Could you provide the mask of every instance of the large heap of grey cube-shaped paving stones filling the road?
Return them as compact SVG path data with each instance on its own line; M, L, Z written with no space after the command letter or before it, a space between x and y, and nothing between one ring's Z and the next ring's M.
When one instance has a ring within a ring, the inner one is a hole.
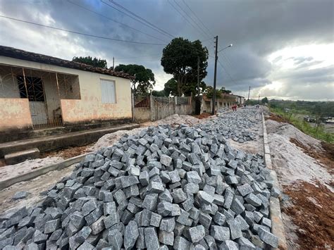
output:
M228 119L218 116L123 135L87 155L38 206L0 215L0 248L277 247L268 200L279 190L271 189L264 158L227 142L254 139L244 130L256 112L232 113L228 130Z

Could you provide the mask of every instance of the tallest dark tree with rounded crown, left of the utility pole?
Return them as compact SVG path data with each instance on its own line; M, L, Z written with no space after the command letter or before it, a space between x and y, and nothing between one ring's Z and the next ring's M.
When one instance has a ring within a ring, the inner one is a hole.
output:
M183 94L185 85L197 82L197 62L199 60L199 80L206 77L209 51L199 40L190 42L178 37L173 39L164 49L161 58L163 70L173 75L176 80L177 94Z

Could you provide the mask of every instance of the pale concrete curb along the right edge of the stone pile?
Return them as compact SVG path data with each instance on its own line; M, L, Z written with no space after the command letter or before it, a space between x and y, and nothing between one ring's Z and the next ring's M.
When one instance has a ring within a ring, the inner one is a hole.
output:
M264 120L264 113L262 112L262 125L264 130L264 162L266 167L271 170L271 178L273 186L279 188L277 175L271 163L271 155L268 144L268 135L266 130L266 122ZM271 217L271 232L278 237L278 249L287 249L287 242L285 239L285 230L282 221L282 213L280 213L280 200L275 197L270 198L270 217Z

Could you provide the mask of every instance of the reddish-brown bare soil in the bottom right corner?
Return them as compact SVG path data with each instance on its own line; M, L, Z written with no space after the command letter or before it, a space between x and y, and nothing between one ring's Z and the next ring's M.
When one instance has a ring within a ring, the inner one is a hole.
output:
M300 249L333 249L334 194L325 185L316 182L297 182L283 187L294 206L283 207L292 222L299 227Z

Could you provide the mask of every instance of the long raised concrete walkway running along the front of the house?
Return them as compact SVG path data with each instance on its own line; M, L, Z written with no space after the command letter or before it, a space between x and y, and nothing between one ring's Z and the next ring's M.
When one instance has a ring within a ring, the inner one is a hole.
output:
M118 130L132 130L136 127L140 127L140 125L137 123L130 123L93 130L70 132L61 135L51 135L47 137L5 142L0 144L0 158L3 158L6 154L23 151L25 149L37 148L40 152L47 152L68 146L83 146L96 142L99 137L102 137L103 135L116 132Z

